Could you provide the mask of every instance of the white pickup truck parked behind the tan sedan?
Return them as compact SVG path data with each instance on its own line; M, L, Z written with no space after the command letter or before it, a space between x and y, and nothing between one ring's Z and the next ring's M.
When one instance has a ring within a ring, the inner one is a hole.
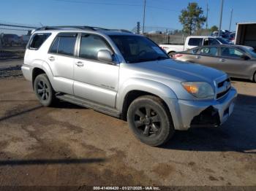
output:
M204 45L216 45L216 44L229 44L225 39L221 37L213 36L187 36L185 44L159 44L169 56L185 50L192 49L194 47Z

